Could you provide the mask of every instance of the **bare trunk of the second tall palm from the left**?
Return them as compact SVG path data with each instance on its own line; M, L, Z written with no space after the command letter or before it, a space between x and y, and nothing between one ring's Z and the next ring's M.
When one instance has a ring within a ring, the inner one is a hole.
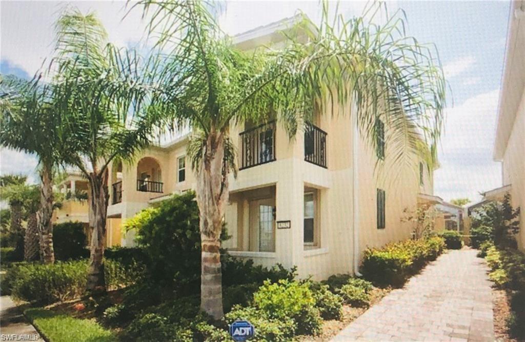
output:
M100 177L96 172L89 175L89 225L91 231L89 275L86 286L87 292L106 292L104 278L104 246L106 245L106 218L108 212L108 174L104 172Z

